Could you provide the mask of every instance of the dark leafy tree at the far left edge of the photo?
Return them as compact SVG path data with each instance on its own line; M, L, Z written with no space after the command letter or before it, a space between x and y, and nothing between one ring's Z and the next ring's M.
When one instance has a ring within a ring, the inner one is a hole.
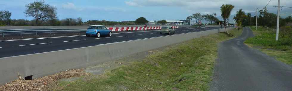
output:
M0 11L0 25L2 25L2 21L4 21L7 25L10 25L11 12L9 11Z

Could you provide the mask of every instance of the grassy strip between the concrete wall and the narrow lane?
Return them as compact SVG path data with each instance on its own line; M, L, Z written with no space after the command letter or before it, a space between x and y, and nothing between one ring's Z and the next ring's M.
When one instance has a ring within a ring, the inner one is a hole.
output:
M241 31L230 31L238 36ZM235 36L234 36L235 37ZM123 65L94 78L60 81L59 90L208 90L212 80L217 44L231 39L212 34L169 46L143 61Z

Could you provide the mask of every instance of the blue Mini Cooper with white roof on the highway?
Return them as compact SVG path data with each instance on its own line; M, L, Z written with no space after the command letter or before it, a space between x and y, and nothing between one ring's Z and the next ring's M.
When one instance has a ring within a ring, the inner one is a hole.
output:
M111 36L111 30L108 30L105 26L102 25L91 25L86 30L86 36L94 35L100 37L101 35Z

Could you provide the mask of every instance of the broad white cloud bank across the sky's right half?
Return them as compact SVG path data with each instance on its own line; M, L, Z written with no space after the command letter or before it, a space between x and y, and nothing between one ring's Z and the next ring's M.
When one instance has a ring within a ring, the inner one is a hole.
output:
M246 12L252 12L257 7L262 9L270 0L128 0L125 4L134 7L179 7L189 13L215 12L219 13L222 4L232 4L235 6L233 14L239 8ZM267 6L269 10L276 10L273 6L277 6L278 0L272 0ZM281 6L291 6L292 0L281 0ZM167 9L167 8L166 8ZM219 15L219 14L218 14Z

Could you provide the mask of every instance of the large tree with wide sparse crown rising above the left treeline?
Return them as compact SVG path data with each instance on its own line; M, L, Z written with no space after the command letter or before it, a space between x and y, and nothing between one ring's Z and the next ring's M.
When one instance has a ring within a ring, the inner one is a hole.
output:
M57 18L57 8L45 4L45 1L35 1L25 5L27 9L23 12L27 17L35 18L35 24L38 26L39 22Z

